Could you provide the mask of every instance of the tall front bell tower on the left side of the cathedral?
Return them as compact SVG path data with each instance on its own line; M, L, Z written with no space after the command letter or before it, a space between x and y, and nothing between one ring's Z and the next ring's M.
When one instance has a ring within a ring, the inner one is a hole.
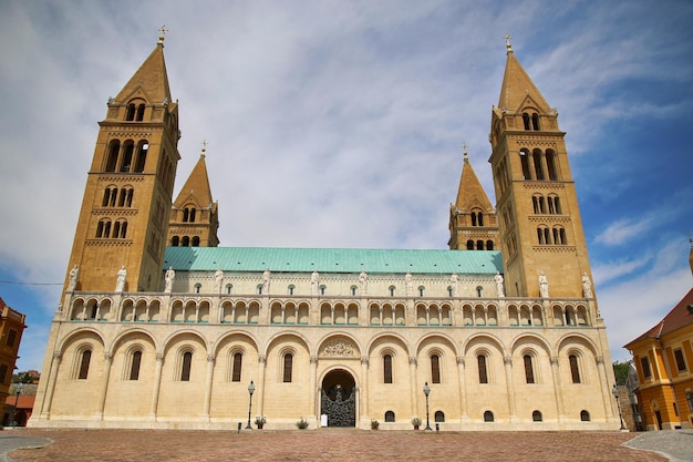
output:
M107 106L70 257L69 268L79 271L71 271L65 289L113 291L124 267L118 290L157 290L180 158L178 103L170 97L163 33Z

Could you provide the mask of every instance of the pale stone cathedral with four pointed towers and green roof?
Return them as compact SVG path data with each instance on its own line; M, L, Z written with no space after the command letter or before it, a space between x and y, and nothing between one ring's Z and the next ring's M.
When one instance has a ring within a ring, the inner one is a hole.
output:
M618 429L565 133L506 54L497 203L465 152L448 249L219 247L162 37L99 123L29 425Z

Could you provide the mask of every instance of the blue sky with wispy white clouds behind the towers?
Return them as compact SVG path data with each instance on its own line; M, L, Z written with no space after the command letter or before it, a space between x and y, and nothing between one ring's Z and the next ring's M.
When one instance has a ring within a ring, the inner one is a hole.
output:
M207 140L225 246L445 248L461 145L492 199L516 57L560 113L612 359L691 288L693 3L0 2L0 297L41 369L106 101L166 24L177 187ZM23 284L9 284L23 283Z

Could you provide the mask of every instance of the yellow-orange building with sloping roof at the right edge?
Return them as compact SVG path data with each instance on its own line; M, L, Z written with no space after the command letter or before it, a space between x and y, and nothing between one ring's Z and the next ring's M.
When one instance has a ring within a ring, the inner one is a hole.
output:
M693 243L689 261L693 273ZM693 428L693 289L624 348L638 370L635 394L647 429Z

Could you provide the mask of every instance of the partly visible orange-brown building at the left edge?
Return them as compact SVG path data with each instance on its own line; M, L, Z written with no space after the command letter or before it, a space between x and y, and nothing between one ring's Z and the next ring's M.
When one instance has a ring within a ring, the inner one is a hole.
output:
M13 310L0 298L0 402L4 404L8 396L14 363L19 358L19 345L27 326L25 316Z

